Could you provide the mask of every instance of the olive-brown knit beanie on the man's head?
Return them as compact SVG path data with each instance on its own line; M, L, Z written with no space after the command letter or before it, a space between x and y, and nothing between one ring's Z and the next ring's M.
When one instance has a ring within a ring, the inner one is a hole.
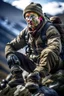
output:
M23 11L24 17L27 12L35 12L40 16L43 16L42 6L39 3L31 2Z

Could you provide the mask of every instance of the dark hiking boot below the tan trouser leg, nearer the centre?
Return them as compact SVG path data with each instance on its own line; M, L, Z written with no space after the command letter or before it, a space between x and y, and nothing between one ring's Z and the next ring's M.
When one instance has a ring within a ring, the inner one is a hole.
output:
M39 90L39 84L40 84L39 72L33 72L28 75L25 87L28 88L30 92L33 92L33 90Z

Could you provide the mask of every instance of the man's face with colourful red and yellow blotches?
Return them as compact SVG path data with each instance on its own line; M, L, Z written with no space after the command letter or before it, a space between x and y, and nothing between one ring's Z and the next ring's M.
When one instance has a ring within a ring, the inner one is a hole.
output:
M40 23L39 15L34 12L28 12L25 14L25 19L28 24L28 27L32 30Z

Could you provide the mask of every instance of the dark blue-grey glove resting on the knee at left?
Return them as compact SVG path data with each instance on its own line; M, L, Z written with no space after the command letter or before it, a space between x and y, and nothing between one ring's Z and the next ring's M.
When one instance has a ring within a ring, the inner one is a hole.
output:
M12 73L23 70L21 68L20 60L18 59L18 57L15 54L10 54L7 57L7 62L8 62L9 68L11 69Z

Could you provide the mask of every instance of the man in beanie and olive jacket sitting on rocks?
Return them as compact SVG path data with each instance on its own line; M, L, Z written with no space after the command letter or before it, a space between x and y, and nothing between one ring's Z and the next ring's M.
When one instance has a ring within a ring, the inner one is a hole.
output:
M61 66L60 34L53 25L47 29L46 34L43 34L42 30L48 19L45 18L40 4L30 3L24 9L23 15L27 27L20 32L17 38L7 43L5 55L13 74L20 70L29 73L25 87L38 88L42 78L56 72ZM26 56L17 52L25 46Z

